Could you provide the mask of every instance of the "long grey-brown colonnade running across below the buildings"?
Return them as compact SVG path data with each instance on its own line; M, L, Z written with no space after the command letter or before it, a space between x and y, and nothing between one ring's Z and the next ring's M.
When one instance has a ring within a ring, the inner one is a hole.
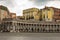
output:
M4 22L0 27L3 32L60 32L57 23Z

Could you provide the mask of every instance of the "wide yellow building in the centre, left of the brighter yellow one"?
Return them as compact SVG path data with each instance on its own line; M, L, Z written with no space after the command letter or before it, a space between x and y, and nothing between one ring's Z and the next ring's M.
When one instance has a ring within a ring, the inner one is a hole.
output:
M40 19L40 10L38 8L30 8L23 10L23 16L25 20L39 20Z

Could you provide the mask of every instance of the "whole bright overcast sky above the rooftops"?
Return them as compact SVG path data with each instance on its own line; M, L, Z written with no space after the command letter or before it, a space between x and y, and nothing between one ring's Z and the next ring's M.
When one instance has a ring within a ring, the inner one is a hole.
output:
M21 16L24 9L32 7L39 9L45 6L60 8L60 0L0 0L0 5L7 6L10 12Z

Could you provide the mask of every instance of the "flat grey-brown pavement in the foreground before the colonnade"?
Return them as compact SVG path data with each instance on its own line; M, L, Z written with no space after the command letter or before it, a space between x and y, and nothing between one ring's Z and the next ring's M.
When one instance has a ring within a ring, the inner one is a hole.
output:
M0 40L60 40L60 33L0 33Z

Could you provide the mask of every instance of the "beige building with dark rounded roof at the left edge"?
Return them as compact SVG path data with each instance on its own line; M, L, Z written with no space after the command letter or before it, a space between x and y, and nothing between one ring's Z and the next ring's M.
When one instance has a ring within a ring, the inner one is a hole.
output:
M0 22L4 18L9 18L9 10L7 7L0 5Z

